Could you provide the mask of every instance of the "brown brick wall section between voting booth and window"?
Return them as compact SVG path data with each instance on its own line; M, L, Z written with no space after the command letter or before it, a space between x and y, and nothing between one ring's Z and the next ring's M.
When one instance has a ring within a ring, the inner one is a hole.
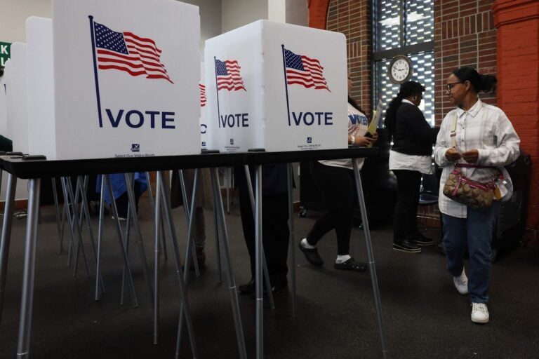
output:
M348 71L354 88L352 97L371 113L371 1L331 0L326 29L346 36Z

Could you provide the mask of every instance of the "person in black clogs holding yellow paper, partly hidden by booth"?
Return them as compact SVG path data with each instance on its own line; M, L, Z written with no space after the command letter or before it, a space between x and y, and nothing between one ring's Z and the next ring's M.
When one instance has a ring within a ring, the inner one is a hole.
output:
M366 147L378 140L378 133L367 137L368 120L361 107L350 97L352 79L348 76L348 143L352 146ZM358 168L364 163L364 158L357 158ZM312 179L322 195L327 210L321 212L314 222L307 237L300 241L300 250L307 262L313 266L322 266L317 250L321 238L335 229L337 234L337 258L333 267L350 271L365 271L365 263L356 261L350 256L350 235L352 233L354 196L354 172L352 160L343 158L337 160L314 161L311 167Z

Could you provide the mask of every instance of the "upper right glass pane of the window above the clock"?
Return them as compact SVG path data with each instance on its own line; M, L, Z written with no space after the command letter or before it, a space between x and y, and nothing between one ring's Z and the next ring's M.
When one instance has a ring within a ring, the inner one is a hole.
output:
M434 8L432 1L406 1L405 45L434 40Z

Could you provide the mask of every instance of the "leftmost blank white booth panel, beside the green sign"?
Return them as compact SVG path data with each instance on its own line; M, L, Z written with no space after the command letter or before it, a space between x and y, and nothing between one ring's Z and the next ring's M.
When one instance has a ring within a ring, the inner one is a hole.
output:
M6 63L7 137L13 151L28 153L28 109L26 43L11 44L11 59Z

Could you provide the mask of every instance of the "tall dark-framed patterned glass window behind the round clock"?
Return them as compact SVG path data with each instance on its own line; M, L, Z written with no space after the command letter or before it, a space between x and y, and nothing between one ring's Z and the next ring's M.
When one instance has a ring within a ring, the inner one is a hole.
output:
M434 126L434 0L373 0L373 107L387 107L399 85L387 76L395 55L408 55L412 81L425 86L420 109Z

